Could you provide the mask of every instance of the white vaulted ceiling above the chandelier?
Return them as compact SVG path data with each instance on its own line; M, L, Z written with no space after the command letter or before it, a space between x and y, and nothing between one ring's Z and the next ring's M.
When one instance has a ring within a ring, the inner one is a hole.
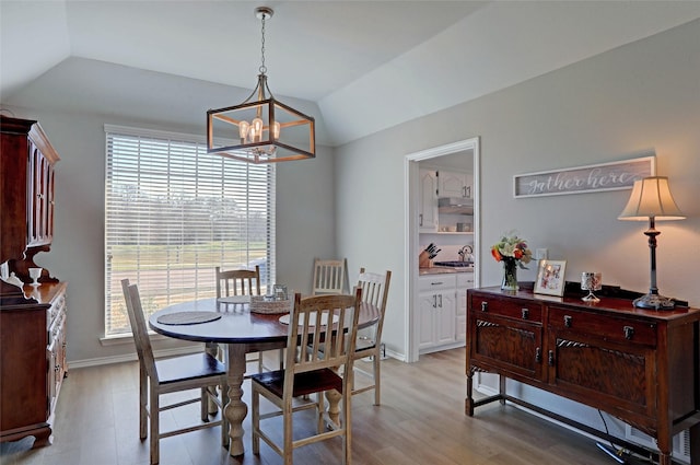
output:
M201 126L255 85L262 4L270 89L328 146L700 18L698 1L0 0L0 102Z

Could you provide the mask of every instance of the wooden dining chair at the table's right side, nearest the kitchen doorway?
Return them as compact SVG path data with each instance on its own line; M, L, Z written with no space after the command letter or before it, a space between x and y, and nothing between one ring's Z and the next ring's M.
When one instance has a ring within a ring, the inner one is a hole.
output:
M360 394L374 390L374 405L380 405L381 399L381 361L382 361L382 328L384 327L384 315L386 313L386 299L389 293L389 281L392 271L368 272L360 268L358 288L362 290L362 301L380 309L380 319L369 328L368 335L360 335L355 344L353 358L355 360L370 357L372 360L372 372L366 372L354 364L355 372L372 380L372 384L355 388L352 385L352 394Z

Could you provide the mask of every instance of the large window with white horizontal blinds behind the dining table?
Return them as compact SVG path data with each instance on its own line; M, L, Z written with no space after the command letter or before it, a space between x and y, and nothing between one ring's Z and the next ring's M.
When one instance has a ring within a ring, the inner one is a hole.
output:
M214 267L275 279L275 165L208 154L203 137L105 126L105 336L130 333L121 279L147 317L215 297Z

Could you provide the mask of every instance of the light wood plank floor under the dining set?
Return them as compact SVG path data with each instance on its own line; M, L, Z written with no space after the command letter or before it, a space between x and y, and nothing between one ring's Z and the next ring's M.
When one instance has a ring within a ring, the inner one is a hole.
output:
M361 362L365 363L365 362ZM593 440L512 406L498 403L464 415L464 349L421 357L418 363L382 362L382 406L373 393L353 397L352 458L355 465L599 465L611 464ZM369 365L369 363L366 363ZM248 382L244 399L249 405ZM27 465L141 465L149 463L148 441L138 438L138 365L120 363L71 370L57 407L54 444L30 450L32 439L0 444L0 463ZM162 425L196 420L162 415ZM172 411L172 410L171 410ZM248 418L249 418L248 412ZM161 464L281 464L266 444L232 458L221 447L218 428L161 441ZM313 428L302 418L295 428ZM340 439L294 452L300 465L336 464Z

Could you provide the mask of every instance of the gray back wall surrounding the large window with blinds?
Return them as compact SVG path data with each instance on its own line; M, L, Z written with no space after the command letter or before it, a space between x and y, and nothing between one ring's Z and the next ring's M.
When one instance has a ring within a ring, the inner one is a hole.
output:
M36 263L68 281L68 361L74 367L136 359L131 338L101 342L104 336L105 124L203 135L205 129L161 126L98 113L56 113L10 108L39 121L61 161L56 166L56 225L51 252ZM98 108L95 108L97 112ZM202 114L203 119L203 114ZM290 289L308 292L313 257L335 256L332 152L316 160L281 163L277 184L277 276ZM182 346L155 338L156 350Z

